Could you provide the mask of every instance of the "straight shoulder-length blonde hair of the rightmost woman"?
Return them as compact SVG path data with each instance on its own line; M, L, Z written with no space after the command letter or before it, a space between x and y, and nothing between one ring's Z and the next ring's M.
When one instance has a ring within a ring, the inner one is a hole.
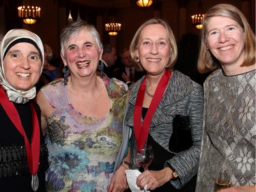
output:
M251 66L255 64L255 34L248 24L245 16L233 5L218 4L210 8L203 18L203 29L201 29L201 46L197 68L199 72L210 72L216 68L221 68L218 59L207 50L207 33L210 18L223 16L235 20L244 29L244 61L241 66Z

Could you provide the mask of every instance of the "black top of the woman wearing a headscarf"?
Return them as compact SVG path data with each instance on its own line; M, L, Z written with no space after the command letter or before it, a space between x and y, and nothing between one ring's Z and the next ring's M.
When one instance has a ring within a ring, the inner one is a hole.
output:
M31 101L30 101L31 102ZM25 129L29 141L32 134L32 115L30 102L25 104L14 103L20 120ZM35 111L40 121L40 108L33 102ZM31 174L27 163L27 154L25 151L25 141L18 132L3 107L0 105L0 191L1 192L29 192L31 189ZM48 167L48 150L44 144L42 128L40 127L40 166L38 170L39 188L38 192L45 189L45 170Z

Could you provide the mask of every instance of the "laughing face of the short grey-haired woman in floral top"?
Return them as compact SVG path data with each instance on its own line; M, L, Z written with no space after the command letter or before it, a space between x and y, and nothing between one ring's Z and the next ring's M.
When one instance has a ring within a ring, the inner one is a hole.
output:
M96 75L102 50L99 50L94 38L84 29L66 44L64 55L61 55L63 63L68 66L72 76L87 77Z

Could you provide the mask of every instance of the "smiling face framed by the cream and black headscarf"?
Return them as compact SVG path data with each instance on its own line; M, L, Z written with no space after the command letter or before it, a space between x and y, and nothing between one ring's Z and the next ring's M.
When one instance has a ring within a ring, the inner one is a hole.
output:
M16 90L30 90L41 75L42 61L33 44L20 42L11 47L3 59L6 80Z

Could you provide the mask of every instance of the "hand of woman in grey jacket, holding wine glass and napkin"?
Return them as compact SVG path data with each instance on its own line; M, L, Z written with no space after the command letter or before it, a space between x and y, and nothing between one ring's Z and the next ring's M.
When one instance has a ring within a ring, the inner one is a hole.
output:
M137 185L141 189L147 185L147 190L154 190L171 180L171 169L165 168L160 171L147 170L137 178Z

